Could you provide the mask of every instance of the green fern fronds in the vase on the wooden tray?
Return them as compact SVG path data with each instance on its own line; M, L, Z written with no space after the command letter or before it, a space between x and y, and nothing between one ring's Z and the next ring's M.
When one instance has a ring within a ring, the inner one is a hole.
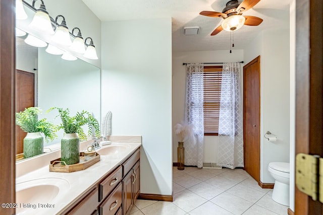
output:
M48 111L58 110L62 123L58 126L59 129L63 129L65 133L78 133L80 140L87 139L87 136L82 128L83 125L88 126L88 136L92 135L92 127L95 130L95 136L100 137L100 126L98 121L88 111L77 112L75 116L70 116L70 110L52 107ZM47 111L47 112L48 112Z

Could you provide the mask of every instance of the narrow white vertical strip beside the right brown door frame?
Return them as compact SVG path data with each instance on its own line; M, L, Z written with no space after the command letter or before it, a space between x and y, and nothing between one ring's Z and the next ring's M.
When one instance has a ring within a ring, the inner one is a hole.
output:
M290 4L290 183L289 183L289 207L295 211L295 59L296 59L296 1Z

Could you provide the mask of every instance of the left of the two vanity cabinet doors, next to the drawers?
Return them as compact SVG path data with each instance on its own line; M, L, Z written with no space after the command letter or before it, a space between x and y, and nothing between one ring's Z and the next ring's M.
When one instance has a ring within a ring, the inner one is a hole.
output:
M122 180L122 214L129 214L133 206L132 183L134 174L131 170Z

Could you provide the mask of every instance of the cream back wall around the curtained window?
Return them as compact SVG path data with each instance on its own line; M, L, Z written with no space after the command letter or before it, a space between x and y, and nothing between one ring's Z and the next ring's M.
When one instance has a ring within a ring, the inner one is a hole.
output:
M242 60L243 50L232 50L232 53L229 50L174 52L173 127L184 120L186 67L183 62L234 62ZM178 136L173 133L173 162L177 162L178 141ZM217 147L218 136L204 136L204 162L216 163Z

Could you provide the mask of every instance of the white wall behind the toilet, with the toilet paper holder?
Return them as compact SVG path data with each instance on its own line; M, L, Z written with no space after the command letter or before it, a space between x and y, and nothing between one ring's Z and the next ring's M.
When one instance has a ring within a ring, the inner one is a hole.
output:
M270 162L289 162L290 56L289 29L265 30L244 50L245 64L260 55L260 181L274 183ZM268 142L266 131L278 137Z

